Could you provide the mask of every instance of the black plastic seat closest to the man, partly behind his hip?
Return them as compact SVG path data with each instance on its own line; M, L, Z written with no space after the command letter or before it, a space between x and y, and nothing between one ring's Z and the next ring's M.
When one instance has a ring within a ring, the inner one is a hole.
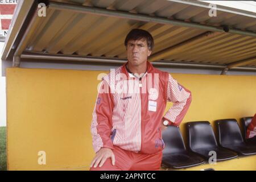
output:
M203 158L186 150L179 127L168 126L162 136L166 145L163 150L163 167L187 168L205 163Z

